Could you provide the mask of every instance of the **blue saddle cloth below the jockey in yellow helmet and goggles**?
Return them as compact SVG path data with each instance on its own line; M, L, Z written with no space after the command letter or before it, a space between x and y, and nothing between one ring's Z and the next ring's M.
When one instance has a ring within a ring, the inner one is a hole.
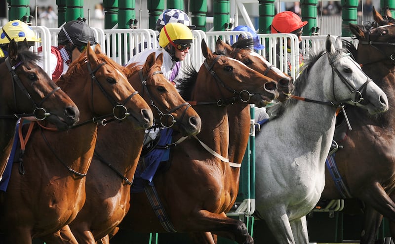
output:
M159 131L159 141L155 149L149 152L139 161L136 172L134 173L133 185L131 187L132 193L143 192L144 184L148 181L148 184L153 185L152 180L158 170L160 162L168 161L170 157L170 148L166 147L166 144L171 143L173 129L164 128ZM144 165L141 165L144 163Z

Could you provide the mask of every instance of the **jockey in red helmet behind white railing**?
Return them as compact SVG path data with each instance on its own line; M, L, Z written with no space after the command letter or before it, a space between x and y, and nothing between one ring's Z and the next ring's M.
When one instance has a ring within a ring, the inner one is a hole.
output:
M291 33L295 34L298 37L299 42L302 41L302 33L303 33L303 27L307 24L307 21L302 21L299 17L294 12L291 11L284 11L280 12L275 15L272 21L272 33ZM290 47L290 40L288 39L288 49L287 52L290 53L291 50L289 49ZM277 54L279 53L279 46L277 46ZM288 75L291 75L291 63L290 63L290 58L291 55L287 55L288 57ZM279 58L277 58L277 62L279 62ZM299 65L303 65L303 55L300 53L299 54ZM279 64L277 63L277 67L279 67Z

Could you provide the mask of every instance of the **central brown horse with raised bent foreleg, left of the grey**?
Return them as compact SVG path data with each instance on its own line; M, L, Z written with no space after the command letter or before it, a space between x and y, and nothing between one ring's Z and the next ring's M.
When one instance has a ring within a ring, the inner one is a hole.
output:
M245 224L228 218L224 212L237 194L225 190L227 178L232 177L226 172L229 167L240 165L227 163L229 125L225 105L246 102L250 97L249 102L265 106L278 96L277 83L233 58L213 54L204 40L201 47L204 64L198 73L189 74L190 82L183 81L179 86L184 99L197 104L194 108L204 122L201 132L172 148L170 160L162 165L165 170L154 177L163 206L157 210L165 212L161 214L164 221L158 221L145 193L133 193L130 209L119 227L165 232L165 226L173 232L211 232L240 244L251 244ZM209 243L214 243L212 237Z

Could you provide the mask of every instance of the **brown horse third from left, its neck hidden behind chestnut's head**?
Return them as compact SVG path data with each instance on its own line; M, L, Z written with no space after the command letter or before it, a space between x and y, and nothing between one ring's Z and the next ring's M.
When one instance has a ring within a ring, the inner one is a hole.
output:
M195 135L200 132L200 117L163 76L162 56L155 58L153 52L145 65L127 66L128 80L152 105L158 123L168 124L166 120L172 118L183 135ZM132 123L99 127L95 155L86 176L86 201L69 224L79 244L95 243L106 236L128 211L143 137L144 130Z

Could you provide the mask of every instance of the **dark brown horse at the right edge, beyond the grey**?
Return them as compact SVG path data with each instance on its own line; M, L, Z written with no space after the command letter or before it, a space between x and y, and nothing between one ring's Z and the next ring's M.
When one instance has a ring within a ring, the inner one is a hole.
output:
M356 61L363 71L386 91L390 104L395 102L395 25L373 9L376 23L385 24L364 30L350 24L359 40ZM373 243L383 215L395 221L395 137L394 108L376 117L356 107L348 107L347 117L353 130L340 143L335 161L349 194L340 194L326 170L325 188L321 199L358 198L366 204L361 243ZM343 195L343 196L342 196ZM390 196L389 196L390 195ZM395 233L393 233L394 236Z

